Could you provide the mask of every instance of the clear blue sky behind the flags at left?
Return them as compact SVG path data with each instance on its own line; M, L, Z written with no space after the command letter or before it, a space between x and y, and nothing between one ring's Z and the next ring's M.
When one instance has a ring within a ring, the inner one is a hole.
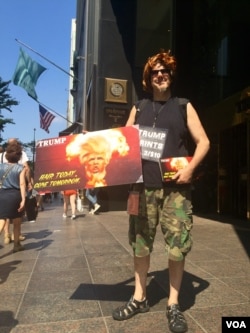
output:
M70 72L71 21L76 17L76 0L0 0L0 77L12 80L20 47L36 62L46 68L39 77L35 90L38 100L66 118L70 76L46 61L32 50ZM21 45L19 42L29 46ZM71 72L72 74L72 72ZM56 116L48 134L40 128L39 104L27 92L9 84L10 96L19 102L12 112L2 110L7 124L2 138L18 138L27 143L34 140L58 137L67 127L67 121Z

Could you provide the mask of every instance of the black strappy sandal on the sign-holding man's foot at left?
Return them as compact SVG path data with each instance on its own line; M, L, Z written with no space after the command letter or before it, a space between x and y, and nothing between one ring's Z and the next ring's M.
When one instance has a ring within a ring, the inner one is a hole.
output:
M112 316L115 320L126 320L133 317L137 313L148 312L150 309L148 305L148 300L145 299L142 302L139 302L133 298L130 298L128 303L115 309L112 313Z

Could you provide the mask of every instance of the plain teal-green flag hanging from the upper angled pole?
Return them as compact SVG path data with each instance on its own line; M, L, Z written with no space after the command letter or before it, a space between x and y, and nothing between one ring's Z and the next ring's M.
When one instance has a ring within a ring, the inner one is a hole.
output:
M35 85L39 76L45 70L45 67L32 60L30 56L20 48L19 58L12 81L16 86L24 88L30 97L37 100Z

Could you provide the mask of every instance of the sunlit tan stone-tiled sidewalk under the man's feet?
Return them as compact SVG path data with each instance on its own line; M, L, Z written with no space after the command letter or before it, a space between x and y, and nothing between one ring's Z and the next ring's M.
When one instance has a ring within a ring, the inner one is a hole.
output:
M117 322L133 293L125 211L62 218L62 202L24 222L26 250L0 240L1 333L168 333L167 258L158 229L148 274L150 312ZM180 304L189 333L220 333L222 316L250 316L249 221L194 217Z

